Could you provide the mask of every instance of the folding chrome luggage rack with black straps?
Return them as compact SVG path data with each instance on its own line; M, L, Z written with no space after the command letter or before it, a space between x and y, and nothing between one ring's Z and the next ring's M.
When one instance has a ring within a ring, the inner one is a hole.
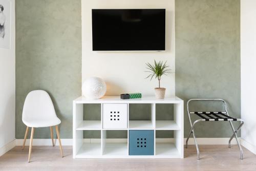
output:
M191 101L222 101L224 103L224 110L225 112L191 112L189 111L189 102ZM238 136L237 136L237 132L241 129L242 125L244 124L244 121L242 119L237 119L237 118L232 118L229 116L228 112L227 112L227 105L226 102L223 99L190 99L187 101L187 114L188 114L188 118L189 118L189 122L191 125L191 129L190 132L187 136L186 139L186 148L187 148L187 142L189 139L189 136L191 135L191 133L193 134L194 140L195 140L195 145L197 148L197 159L199 160L199 148L198 148L198 144L197 144L197 140L196 140L196 136L195 136L195 131L194 131L194 126L197 122L201 122L201 121L229 121L230 126L232 128L233 131L233 135L230 137L229 141L228 141L228 147L230 148L230 142L231 140L235 137L240 149L240 158L243 159L243 149L241 147L241 144L239 142ZM196 121L194 121L194 123L192 124L191 122L191 118L190 118L190 114L195 114L197 116L199 116L201 119L198 119ZM240 121L241 124L238 126L237 130L234 130L234 126L232 124L231 121Z

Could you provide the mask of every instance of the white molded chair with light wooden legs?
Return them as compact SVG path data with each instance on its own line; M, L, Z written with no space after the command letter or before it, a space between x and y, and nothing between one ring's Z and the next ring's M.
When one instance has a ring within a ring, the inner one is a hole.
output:
M29 144L28 162L30 162L30 158L31 158L33 134L34 134L35 127L49 126L50 132L51 132L52 145L54 146L52 126L55 126L58 141L59 141L60 152L63 157L62 146L61 146L59 131L58 131L58 124L60 124L61 121L56 116L51 97L46 91L35 90L30 92L27 95L25 99L24 107L23 107L22 121L25 125L27 125L22 149L24 149L25 147L25 142L27 139L29 127L32 128L30 144Z

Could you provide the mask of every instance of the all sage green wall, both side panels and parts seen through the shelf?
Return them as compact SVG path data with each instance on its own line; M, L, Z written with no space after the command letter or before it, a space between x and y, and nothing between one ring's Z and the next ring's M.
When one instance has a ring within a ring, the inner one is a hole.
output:
M229 112L239 117L240 1L178 0L175 8L177 96L185 102L189 98L223 98ZM50 93L61 119L61 138L72 138L72 100L80 96L80 87L80 0L16 0L16 138L24 137L23 104L26 95L36 89ZM99 113L98 106L89 106L84 117L98 118L92 115ZM147 105L132 105L130 117L149 119L149 110ZM172 119L169 111L173 105L158 105L157 119ZM184 118L186 136L186 113ZM199 123L196 133L198 137L231 135L227 123ZM99 132L84 132L86 138L99 136ZM109 136L125 138L126 134L110 132ZM49 128L36 129L34 137L50 138ZM157 137L173 137L173 132L159 131Z

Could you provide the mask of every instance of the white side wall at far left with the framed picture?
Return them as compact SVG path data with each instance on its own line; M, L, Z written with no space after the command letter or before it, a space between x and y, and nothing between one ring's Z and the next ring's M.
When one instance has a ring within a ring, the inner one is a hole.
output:
M0 48L0 156L15 139L15 1L11 2L11 45Z

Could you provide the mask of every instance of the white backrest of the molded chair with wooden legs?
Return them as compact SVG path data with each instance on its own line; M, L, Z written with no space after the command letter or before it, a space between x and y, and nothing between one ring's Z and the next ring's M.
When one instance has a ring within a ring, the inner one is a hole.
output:
M30 92L24 103L22 120L51 119L56 113L49 94L44 90L34 90Z

